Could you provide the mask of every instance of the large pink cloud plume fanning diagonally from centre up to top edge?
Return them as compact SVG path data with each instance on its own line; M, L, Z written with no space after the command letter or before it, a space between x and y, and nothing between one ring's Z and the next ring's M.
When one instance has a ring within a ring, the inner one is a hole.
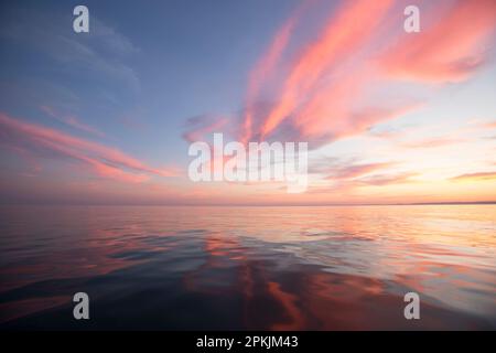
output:
M374 46L370 44L378 40L376 32L392 8L393 1L342 2L317 40L304 46L298 58L290 63L289 73L282 75L285 78L276 104L258 111L248 108L244 127L251 133L245 133L244 138L254 136L263 139L271 135L278 139L305 140L311 142L311 148L315 148L365 132L375 124L418 108L420 104L414 99L393 99L377 105L366 103L369 87L379 86L384 81L380 71L377 71L377 63L367 51L365 57L347 66L348 57L364 47ZM294 18L291 18L284 24L261 62L273 56L273 47L280 53L281 43L288 44L291 32L288 29L293 30L294 23ZM281 58L278 56L278 60ZM256 69L262 69L266 81L267 77L278 76L271 72L278 69L276 65L256 66ZM256 96L254 85L249 85L248 92L249 96Z

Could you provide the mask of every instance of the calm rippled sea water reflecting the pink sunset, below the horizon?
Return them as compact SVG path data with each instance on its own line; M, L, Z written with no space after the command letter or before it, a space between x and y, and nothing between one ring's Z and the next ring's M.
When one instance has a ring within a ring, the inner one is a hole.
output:
M496 329L496 205L15 206L0 221L1 329ZM420 320L403 317L409 291Z

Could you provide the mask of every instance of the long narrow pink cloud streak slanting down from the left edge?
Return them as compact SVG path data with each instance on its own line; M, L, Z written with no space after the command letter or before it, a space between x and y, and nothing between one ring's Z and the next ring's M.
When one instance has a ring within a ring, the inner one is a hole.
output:
M174 176L175 168L155 169L118 149L73 137L40 125L19 121L0 113L2 142L32 154L64 157L87 165L97 175L122 182L143 182L151 175Z

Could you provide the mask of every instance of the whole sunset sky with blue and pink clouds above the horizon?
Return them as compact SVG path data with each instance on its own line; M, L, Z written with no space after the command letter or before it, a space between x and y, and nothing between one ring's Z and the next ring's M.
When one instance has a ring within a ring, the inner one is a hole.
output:
M0 200L496 201L495 44L494 0L2 1ZM215 132L308 142L306 190L193 182Z

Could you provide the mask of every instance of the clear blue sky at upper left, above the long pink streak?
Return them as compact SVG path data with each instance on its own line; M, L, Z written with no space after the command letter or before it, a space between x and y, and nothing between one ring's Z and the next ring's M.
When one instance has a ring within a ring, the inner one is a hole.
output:
M240 109L265 33L294 1L87 1L87 34L73 32L78 3L3 4L1 109L66 128L39 109L51 106L130 153L169 163L187 157L185 119Z

